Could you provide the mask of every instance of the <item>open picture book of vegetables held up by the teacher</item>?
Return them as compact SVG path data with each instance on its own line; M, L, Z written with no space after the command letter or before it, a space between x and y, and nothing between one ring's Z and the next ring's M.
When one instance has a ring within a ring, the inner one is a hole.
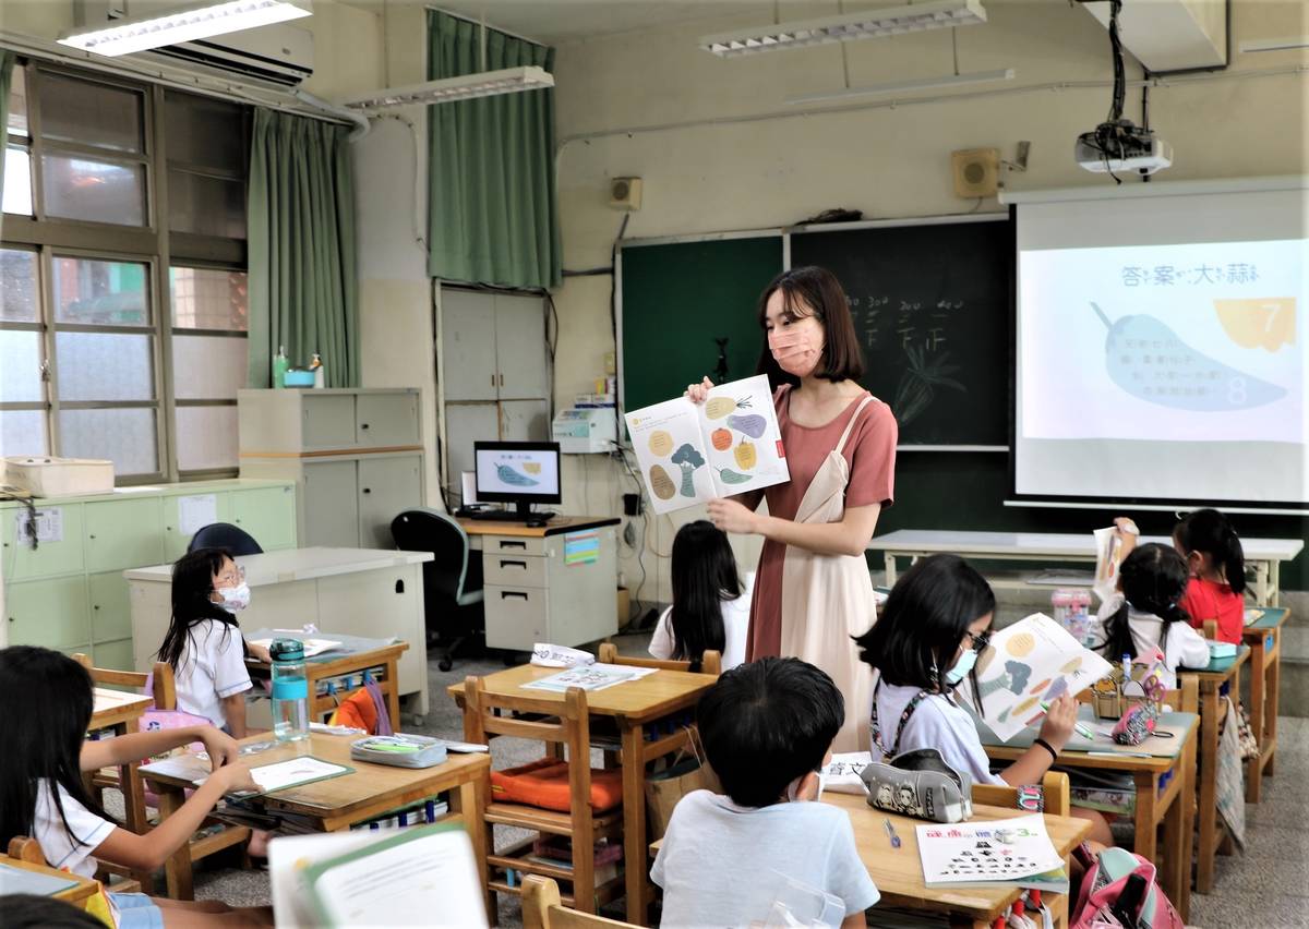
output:
M791 480L772 391L763 374L627 413L645 489L656 513Z

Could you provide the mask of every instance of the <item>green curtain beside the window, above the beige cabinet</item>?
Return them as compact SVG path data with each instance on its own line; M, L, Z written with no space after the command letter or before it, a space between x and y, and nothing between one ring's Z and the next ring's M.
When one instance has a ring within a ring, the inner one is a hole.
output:
M285 345L293 368L322 356L329 387L357 387L359 281L350 127L254 111L250 195L251 387L272 385Z

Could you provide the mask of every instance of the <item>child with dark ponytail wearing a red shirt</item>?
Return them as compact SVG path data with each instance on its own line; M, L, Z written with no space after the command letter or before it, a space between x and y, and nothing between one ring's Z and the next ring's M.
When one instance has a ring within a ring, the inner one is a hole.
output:
M1228 518L1213 509L1195 510L1173 529L1173 547L1186 559L1191 578L1182 608L1191 625L1213 619L1219 641L1241 644L1245 628L1245 552Z

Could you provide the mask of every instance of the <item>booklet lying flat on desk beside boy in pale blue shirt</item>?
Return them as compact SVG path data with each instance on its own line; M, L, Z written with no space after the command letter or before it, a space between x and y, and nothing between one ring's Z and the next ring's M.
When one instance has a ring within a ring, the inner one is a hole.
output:
M1068 874L1039 813L915 827L928 887L1004 885L1068 892Z

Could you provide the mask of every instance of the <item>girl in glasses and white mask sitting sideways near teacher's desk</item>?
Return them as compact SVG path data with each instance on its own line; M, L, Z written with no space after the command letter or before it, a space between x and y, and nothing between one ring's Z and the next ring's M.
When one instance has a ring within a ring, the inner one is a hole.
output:
M245 644L232 615L250 603L245 572L223 548L196 548L173 565L173 620L158 658L177 675L177 707L237 739L246 737L245 658L267 649Z

